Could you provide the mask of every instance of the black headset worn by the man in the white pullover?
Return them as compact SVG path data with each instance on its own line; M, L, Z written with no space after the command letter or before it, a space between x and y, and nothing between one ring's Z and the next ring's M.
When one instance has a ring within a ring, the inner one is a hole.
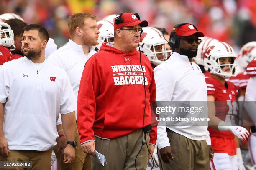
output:
M168 42L168 44L172 47L172 51L174 51L175 48L179 47L179 36L176 34L175 30L178 27L180 27L181 25L185 25L185 24L190 24L190 23L178 23L178 24L174 25L174 27L172 28L170 39L169 39L169 42ZM193 25L193 24L190 24L190 25ZM197 30L195 25L193 25L193 26L194 26L195 30Z

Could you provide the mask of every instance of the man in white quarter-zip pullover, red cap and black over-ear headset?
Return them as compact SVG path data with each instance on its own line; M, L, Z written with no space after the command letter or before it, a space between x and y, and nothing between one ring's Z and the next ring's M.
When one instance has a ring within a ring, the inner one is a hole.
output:
M174 26L170 36L173 53L154 69L156 101L207 101L205 77L200 67L192 62L200 43L198 37L203 36L194 25L180 23ZM213 150L207 125L190 122L186 126L171 126L159 122L157 129L161 169L209 170Z

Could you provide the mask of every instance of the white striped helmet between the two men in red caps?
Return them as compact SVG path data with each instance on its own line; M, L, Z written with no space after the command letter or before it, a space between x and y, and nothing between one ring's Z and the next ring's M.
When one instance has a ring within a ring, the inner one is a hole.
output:
M161 31L154 27L143 28L139 47L141 52L143 52L148 57L153 65L159 65L164 62L158 59L158 54L162 54L164 60L166 60L168 57L167 53L172 52L172 50L166 50L165 44L167 44L167 41L164 39L164 35ZM160 52L156 52L157 45L162 45L162 50ZM139 48L137 48L137 50L139 50Z

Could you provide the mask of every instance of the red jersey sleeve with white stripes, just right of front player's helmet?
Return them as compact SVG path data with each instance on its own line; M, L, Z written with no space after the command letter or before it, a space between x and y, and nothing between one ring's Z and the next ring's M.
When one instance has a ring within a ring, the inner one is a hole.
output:
M249 79L247 72L241 72L236 77L230 77L228 81L232 82L238 90L245 90Z

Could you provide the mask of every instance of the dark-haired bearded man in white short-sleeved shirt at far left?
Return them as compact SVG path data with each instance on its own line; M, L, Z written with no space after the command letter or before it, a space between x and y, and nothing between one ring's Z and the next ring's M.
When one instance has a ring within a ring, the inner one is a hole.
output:
M46 60L48 40L41 25L26 26L25 57L0 68L0 161L31 161L33 169L50 169L59 113L70 144L63 162L74 161L74 92L66 72Z

